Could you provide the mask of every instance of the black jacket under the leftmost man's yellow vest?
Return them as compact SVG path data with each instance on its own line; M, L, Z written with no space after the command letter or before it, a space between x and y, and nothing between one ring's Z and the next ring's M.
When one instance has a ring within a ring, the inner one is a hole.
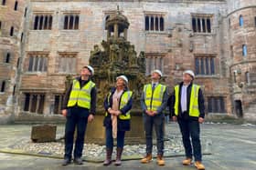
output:
M82 88L84 85L86 85L90 81L90 80L83 81L83 80L81 80L80 77L77 77L76 79L80 82L80 88ZM73 83L71 83L71 85L69 85L69 89L66 92L66 94L64 95L62 109L67 109L68 108L69 95L71 93L72 87L73 87ZM96 87L94 86L91 89L91 109L90 109L90 114L92 114L92 115L95 115L95 113L96 113L96 96L97 96L97 90L96 90Z

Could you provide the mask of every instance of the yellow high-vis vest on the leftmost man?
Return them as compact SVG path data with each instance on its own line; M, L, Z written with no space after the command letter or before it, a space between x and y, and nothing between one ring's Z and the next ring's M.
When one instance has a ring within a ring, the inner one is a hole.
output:
M80 88L80 82L73 80L72 90L69 95L68 107L78 105L83 108L91 108L91 89L95 86L91 80Z

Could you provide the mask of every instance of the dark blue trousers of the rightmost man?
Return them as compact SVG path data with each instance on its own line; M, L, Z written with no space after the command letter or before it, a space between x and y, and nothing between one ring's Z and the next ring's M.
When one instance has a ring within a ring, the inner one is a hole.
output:
M201 144L200 144L200 125L197 120L178 120L182 141L185 147L185 154L192 158L192 146L195 161L202 161ZM192 146L191 140L192 139Z

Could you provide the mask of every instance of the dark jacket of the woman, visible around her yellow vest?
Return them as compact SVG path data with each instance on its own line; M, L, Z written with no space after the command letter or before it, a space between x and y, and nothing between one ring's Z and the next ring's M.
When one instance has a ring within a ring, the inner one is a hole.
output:
M111 107L112 108L112 95L114 94L116 88L112 88L111 90L111 96L110 96L110 100L108 100L109 94L106 96L105 100L104 100L104 108L105 111L108 112L108 109ZM128 91L128 89L124 89L123 93ZM123 95L123 94L122 94ZM121 97L122 97L121 95ZM128 101L127 105L125 105L123 107L123 109L121 109L120 111L122 112L123 115L125 115L128 111L130 111L132 109L133 106L133 99L132 97L130 98L130 100ZM130 120L121 120L119 117L117 119L117 130L119 131L130 131L131 129L131 125L130 125ZM108 114L107 116L105 116L104 120L103 120L103 125L106 128L111 128L112 127L112 118L111 118L111 114Z

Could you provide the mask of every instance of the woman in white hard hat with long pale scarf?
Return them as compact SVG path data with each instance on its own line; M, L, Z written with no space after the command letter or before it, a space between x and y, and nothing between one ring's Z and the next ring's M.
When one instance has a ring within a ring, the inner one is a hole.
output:
M113 140L117 140L116 159L114 165L121 165L125 131L130 130L130 110L132 109L133 92L128 89L125 75L116 78L116 86L112 88L104 101L106 110L103 125L106 129L106 160L103 165L112 163Z

